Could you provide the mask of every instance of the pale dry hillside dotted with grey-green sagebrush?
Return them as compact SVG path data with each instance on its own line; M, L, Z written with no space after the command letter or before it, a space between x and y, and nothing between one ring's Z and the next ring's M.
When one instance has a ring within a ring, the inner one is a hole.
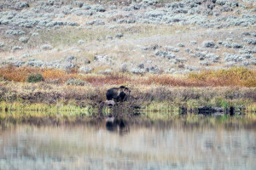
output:
M0 0L0 65L80 72L256 68L254 0Z

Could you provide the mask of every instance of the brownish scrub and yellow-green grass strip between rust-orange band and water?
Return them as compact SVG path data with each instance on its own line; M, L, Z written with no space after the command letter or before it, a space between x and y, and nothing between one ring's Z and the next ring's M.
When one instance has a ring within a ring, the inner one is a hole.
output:
M106 100L108 88L72 85L55 85L45 82L0 82L0 99L3 111L79 111L98 108ZM123 108L139 106L145 111L177 111L180 107L196 109L201 106L234 106L255 111L256 88L178 88L168 86L133 86L131 96ZM119 104L120 107L121 104Z

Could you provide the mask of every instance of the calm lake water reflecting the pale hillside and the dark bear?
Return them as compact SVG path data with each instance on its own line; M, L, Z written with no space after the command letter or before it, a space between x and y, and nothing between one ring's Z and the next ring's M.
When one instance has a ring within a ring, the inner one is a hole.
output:
M256 169L255 122L137 116L60 126L2 123L0 169Z

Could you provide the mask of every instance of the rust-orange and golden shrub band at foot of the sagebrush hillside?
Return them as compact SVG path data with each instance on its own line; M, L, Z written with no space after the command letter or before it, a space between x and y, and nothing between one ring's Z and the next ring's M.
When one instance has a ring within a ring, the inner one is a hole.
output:
M56 69L38 69L30 67L16 68L9 66L0 68L0 77L14 82L25 82L32 73L41 73L45 81L58 80L66 82L77 78L90 82L92 86L115 85L163 85L175 87L256 87L256 71L242 67L233 67L228 70L201 71L190 73L187 76L173 77L172 75L143 76L114 73L110 75L79 74L76 70L61 71Z

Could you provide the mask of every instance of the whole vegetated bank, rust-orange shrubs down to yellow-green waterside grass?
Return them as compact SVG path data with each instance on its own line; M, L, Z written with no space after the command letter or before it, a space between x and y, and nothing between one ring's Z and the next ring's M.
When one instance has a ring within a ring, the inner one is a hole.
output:
M41 74L44 81L26 82L35 73ZM128 109L139 106L146 112L166 113L178 112L181 107L193 110L201 106L234 106L236 110L256 111L256 71L240 67L173 76L80 74L76 70L9 66L0 68L0 77L2 111L90 114L92 108L106 100L108 88L120 85L131 88L131 96L124 103Z

